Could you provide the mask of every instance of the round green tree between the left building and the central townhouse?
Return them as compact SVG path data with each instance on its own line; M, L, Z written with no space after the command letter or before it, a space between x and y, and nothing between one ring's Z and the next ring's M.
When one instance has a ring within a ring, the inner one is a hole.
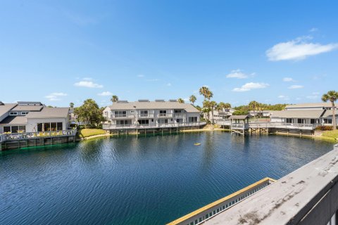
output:
M101 122L104 122L103 108L99 108L99 105L93 99L87 99L80 107L75 108L74 114L77 116L77 120L84 124L84 127L98 126Z

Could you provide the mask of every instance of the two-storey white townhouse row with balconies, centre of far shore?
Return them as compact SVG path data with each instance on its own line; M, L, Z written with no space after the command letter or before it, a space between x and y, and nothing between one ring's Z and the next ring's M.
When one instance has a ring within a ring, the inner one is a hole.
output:
M124 127L183 127L199 124L201 113L189 103L176 100L117 101L104 109L104 129Z

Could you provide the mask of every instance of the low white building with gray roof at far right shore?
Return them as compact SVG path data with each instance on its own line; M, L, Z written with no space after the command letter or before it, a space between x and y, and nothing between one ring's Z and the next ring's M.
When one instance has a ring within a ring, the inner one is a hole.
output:
M337 110L337 106L335 107ZM331 103L301 103L287 105L285 110L271 113L271 122L286 122L291 124L332 125ZM335 115L338 121L338 114Z

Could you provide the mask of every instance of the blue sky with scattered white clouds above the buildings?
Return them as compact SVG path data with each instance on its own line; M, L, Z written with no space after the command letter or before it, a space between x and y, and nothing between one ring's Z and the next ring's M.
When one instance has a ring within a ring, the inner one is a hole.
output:
M318 102L337 90L337 1L0 1L0 101Z

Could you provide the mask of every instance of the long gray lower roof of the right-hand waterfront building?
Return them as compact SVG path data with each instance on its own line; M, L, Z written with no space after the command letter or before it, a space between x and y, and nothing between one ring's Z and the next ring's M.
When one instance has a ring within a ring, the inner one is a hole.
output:
M275 111L271 117L281 118L319 118L325 110L282 110Z

